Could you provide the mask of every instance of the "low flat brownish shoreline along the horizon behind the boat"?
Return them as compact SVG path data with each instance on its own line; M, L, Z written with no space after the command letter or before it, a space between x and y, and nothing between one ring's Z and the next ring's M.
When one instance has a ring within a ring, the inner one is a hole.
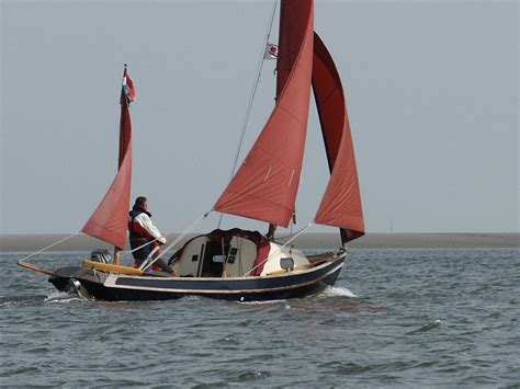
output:
M0 252L33 252L67 234L3 234ZM177 234L168 234L172 241ZM332 249L340 245L338 233L304 233L294 247L308 250ZM348 244L351 249L515 249L520 248L520 233L368 233ZM91 251L110 248L97 239L78 236L49 251Z

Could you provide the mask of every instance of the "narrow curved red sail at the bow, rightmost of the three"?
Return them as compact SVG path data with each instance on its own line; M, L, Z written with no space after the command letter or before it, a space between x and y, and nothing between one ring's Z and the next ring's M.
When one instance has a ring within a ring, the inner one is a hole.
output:
M340 227L343 242L364 234L363 210L341 80L332 57L314 35L313 88L330 168L315 222Z

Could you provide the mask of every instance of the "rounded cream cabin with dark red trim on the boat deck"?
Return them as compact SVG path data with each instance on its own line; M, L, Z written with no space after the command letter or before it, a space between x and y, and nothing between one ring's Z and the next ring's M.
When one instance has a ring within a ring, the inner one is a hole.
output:
M177 276L194 278L269 276L310 266L301 251L238 228L197 236L168 263Z

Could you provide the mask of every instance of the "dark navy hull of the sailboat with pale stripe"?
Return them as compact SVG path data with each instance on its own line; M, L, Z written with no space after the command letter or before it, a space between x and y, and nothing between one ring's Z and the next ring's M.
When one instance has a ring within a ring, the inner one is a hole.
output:
M81 267L61 267L50 277L58 290L109 301L170 300L203 296L230 301L265 301L305 297L335 284L343 265L340 258L305 272L271 277L181 278L109 275ZM79 284L78 284L79 282ZM75 285L76 284L76 285Z

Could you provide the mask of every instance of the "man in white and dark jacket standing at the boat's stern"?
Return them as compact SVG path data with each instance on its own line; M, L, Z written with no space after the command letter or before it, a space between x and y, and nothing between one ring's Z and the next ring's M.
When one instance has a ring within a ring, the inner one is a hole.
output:
M134 251L134 267L139 267L148 258L151 251L159 244L166 244L166 239L159 229L151 222L151 214L148 211L148 199L139 196L135 199L135 204L129 211L128 231L129 243L132 250L137 249L146 243L144 248ZM172 270L162 261L155 262L161 271L172 273ZM155 267L155 266L154 266Z

